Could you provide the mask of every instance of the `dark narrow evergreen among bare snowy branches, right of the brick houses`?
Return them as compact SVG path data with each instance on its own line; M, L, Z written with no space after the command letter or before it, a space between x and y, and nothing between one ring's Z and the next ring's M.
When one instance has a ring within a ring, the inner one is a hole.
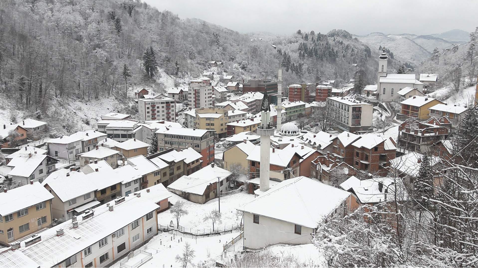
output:
M418 176L413 181L413 195L419 208L426 207L424 198L433 197L433 170L427 154L422 157Z

